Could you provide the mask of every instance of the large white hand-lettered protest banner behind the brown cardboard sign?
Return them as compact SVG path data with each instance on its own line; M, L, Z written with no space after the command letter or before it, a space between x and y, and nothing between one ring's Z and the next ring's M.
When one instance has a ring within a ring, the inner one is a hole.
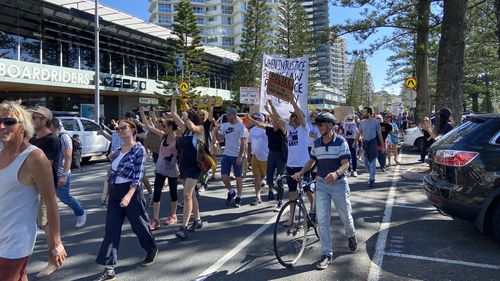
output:
M265 112L264 105L266 104L267 100L272 100L273 105L276 107L279 115L284 118L288 118L290 116L290 111L293 111L293 107L288 101L289 98L286 98L286 95L283 96L283 98L286 99L284 100L269 93L268 83L270 73L272 72L293 79L293 99L295 99L304 115L308 116L308 68L308 56L300 58L282 58L279 56L264 55L262 62L262 82L260 87L260 112ZM271 82L272 81L273 80L271 80ZM276 91L273 91L273 89L271 89L271 91L273 93L276 93Z

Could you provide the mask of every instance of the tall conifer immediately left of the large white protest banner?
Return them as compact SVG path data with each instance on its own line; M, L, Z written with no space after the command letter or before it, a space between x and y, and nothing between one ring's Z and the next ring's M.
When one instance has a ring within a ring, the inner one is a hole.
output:
M239 101L241 86L259 86L262 55L269 50L271 30L265 0L250 0L245 16L240 60L235 63L231 89L233 100Z

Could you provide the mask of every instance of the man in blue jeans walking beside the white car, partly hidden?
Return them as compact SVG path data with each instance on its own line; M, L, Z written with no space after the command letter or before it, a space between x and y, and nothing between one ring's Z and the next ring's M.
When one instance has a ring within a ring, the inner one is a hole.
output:
M61 143L61 149L57 161L57 197L73 209L76 216L75 227L80 228L87 221L87 210L84 210L80 203L69 193L71 185L71 160L73 154L73 141L68 133L62 131L62 125L59 119L52 118L50 131L56 135Z

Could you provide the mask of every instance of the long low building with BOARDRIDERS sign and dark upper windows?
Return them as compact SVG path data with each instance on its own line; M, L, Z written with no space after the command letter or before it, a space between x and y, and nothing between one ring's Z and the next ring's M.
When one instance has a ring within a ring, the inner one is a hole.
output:
M100 103L106 120L140 104L158 103L157 79L167 75L170 31L99 6ZM55 111L94 104L94 1L4 0L0 3L0 101L21 99ZM206 47L210 85L230 98L237 55ZM207 91L205 91L207 92ZM81 112L81 111L80 111Z

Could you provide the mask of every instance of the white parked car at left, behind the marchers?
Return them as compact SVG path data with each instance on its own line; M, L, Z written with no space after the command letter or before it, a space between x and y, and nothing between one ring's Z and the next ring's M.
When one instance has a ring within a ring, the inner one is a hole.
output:
M111 145L105 137L97 135L101 129L93 120L75 116L57 116L66 132L78 134L82 141L82 161L88 162L92 156L107 154Z

